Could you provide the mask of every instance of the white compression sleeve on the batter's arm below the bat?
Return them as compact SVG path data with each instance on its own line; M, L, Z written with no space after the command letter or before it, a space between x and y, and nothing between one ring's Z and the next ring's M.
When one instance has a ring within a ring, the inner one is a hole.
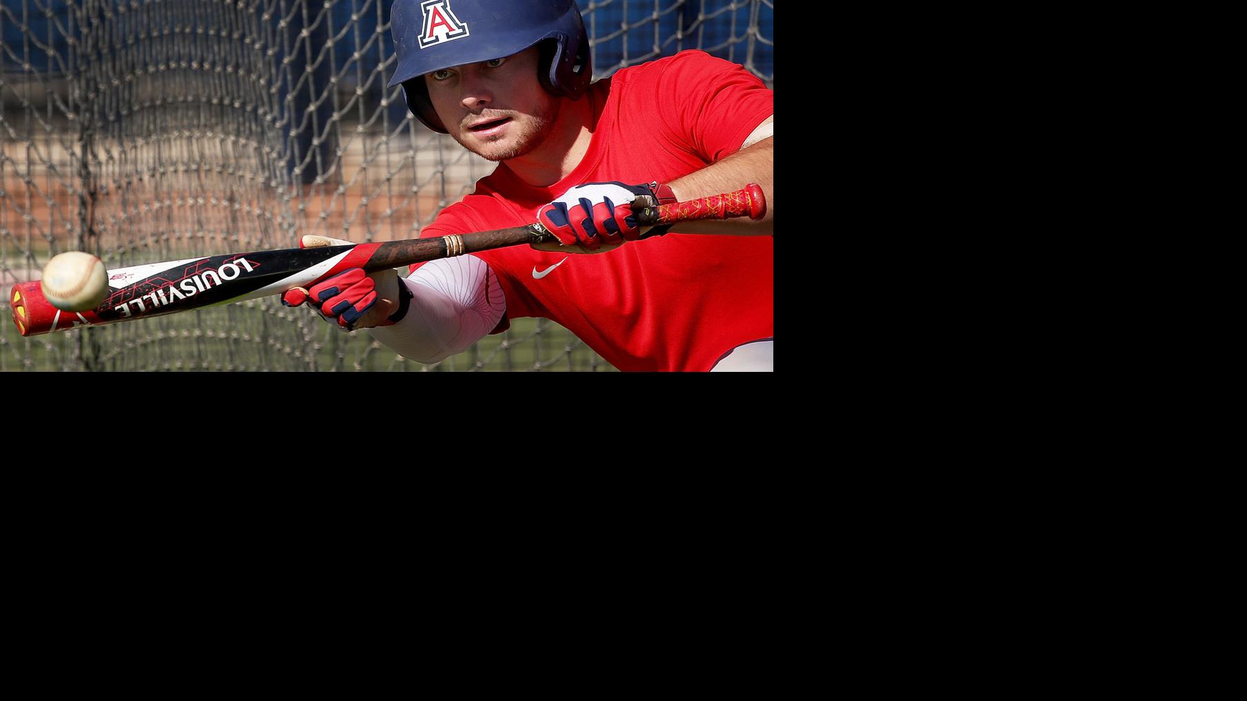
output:
M438 362L468 350L506 311L498 276L475 255L430 260L398 281L412 290L407 315L393 326L368 331L416 362Z

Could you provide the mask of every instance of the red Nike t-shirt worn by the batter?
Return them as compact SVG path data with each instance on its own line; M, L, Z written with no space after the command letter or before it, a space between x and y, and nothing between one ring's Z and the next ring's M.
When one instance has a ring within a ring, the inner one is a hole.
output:
M597 126L571 174L536 188L499 163L421 238L531 224L541 205L585 183L671 182L739 151L774 110L762 81L696 50L621 68L586 95ZM774 242L677 232L595 255L526 245L473 255L498 275L508 318L551 319L624 371L710 370L731 349L774 335Z

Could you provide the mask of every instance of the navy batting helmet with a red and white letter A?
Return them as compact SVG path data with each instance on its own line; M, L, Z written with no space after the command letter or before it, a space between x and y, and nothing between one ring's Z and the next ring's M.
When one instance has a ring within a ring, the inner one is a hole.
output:
M448 133L429 101L424 73L493 61L540 44L537 78L554 95L580 98L592 78L589 36L572 0L394 0L390 35L407 107Z

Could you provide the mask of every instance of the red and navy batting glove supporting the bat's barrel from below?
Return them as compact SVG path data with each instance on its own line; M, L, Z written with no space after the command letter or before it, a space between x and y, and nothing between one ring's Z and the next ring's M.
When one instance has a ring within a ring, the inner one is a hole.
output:
M303 237L299 248L348 244L350 242L327 237ZM293 288L282 294L286 306L298 306L308 300L325 321L354 331L398 322L407 314L412 291L399 281L393 269L368 274L363 268L352 268L311 289ZM378 300L384 304L378 305Z

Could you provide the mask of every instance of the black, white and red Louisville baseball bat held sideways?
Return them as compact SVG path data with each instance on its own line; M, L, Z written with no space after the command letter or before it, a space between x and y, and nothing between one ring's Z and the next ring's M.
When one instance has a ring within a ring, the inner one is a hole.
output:
M662 205L653 198L638 197L632 205L643 227L731 217L761 219L767 210L762 188L752 183L737 192ZM309 288L350 268L375 273L478 250L551 240L554 235L534 223L440 238L187 258L108 270L108 296L87 311L56 309L44 298L37 280L14 285L9 306L17 332L37 336L277 295L291 288Z

